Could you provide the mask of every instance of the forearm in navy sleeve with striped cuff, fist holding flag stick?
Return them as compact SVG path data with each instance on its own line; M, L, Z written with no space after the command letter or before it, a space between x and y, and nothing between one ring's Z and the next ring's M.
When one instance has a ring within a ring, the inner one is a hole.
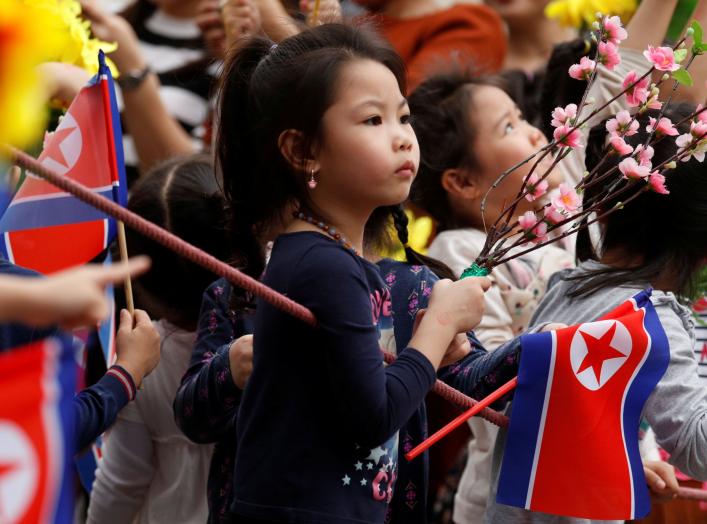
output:
M115 421L118 412L135 398L142 378L160 357L160 336L144 311L133 317L123 310L116 336L118 359L93 386L74 397L76 449L93 442Z

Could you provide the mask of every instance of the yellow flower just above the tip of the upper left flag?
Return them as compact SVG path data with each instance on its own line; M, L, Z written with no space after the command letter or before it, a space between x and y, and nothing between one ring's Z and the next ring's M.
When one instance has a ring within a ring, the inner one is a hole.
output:
M55 49L48 61L64 62L81 67L91 74L98 72L98 50L115 51L115 43L103 42L91 36L91 24L81 18L81 4L77 0L23 0L25 4L45 11L54 20L56 30L67 35L66 43ZM106 60L113 76L118 71Z

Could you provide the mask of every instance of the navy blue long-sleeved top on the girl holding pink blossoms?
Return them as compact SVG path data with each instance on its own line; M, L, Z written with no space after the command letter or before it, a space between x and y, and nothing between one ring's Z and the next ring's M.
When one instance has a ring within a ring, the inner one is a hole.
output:
M318 326L258 302L253 373L238 414L234 513L276 522L384 521L398 429L435 380L413 348L387 367L390 293L378 268L314 232L280 236L264 283Z

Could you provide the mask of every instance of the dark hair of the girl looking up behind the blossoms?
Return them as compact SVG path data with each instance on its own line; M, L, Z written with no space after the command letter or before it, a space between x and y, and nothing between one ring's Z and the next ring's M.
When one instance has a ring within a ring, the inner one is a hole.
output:
M412 126L420 143L420 168L410 200L435 219L439 231L458 227L441 177L447 169L478 168L472 144L476 131L470 114L474 88L504 89L497 77L454 69L429 77L408 97Z

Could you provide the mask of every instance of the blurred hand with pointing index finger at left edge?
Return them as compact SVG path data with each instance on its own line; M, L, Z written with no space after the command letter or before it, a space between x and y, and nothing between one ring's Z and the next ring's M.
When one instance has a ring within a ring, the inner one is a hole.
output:
M105 287L144 273L149 267L149 258L135 257L127 264L87 265L47 278L13 277L19 296L8 311L9 320L37 327L95 326L108 314Z

